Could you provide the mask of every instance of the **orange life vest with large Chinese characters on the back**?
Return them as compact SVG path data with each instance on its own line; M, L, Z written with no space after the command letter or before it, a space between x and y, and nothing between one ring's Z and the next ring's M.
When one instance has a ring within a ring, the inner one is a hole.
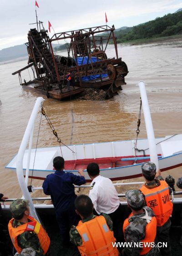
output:
M172 214L173 204L169 198L169 187L166 181L160 181L159 187L147 188L143 185L140 190L145 195L147 206L156 215L157 226L161 227L167 222Z

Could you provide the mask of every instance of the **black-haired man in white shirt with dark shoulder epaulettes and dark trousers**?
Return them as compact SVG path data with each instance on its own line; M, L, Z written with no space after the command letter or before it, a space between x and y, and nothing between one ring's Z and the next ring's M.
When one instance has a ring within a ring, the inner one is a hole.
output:
M120 204L117 191L112 181L100 175L99 165L90 163L87 172L91 178L89 197L98 214L107 213L113 222L114 237L117 242L124 241L122 225L124 213Z

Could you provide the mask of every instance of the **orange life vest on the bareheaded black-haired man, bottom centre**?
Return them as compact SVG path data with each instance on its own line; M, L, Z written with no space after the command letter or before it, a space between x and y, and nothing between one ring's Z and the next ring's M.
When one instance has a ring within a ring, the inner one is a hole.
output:
M118 256L117 248L112 245L116 239L103 216L84 223L79 221L76 229L82 239L82 245L78 246L81 256Z

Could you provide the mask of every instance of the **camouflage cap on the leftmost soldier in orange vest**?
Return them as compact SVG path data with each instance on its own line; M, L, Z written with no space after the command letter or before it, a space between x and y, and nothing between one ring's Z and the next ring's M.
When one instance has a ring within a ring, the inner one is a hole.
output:
M12 213L13 217L16 219L22 213L24 213L28 204L29 204L29 200L25 200L25 199L14 200L10 204L10 212Z

